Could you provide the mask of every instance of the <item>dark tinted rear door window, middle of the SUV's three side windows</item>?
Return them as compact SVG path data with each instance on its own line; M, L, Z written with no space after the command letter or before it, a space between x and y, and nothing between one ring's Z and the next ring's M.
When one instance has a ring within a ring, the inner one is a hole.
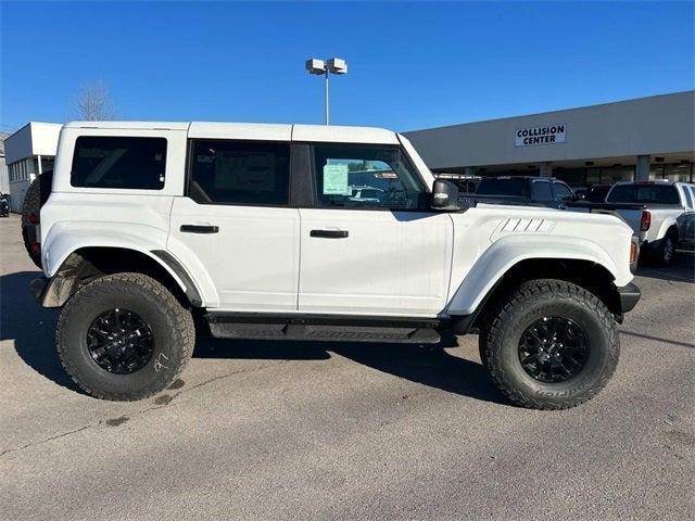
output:
M285 206L290 143L193 141L189 195L197 203Z

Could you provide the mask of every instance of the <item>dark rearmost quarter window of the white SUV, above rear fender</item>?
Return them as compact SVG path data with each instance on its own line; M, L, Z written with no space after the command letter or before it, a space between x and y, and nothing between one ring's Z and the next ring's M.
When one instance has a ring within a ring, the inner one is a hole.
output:
M73 187L161 190L166 139L83 136L75 141Z

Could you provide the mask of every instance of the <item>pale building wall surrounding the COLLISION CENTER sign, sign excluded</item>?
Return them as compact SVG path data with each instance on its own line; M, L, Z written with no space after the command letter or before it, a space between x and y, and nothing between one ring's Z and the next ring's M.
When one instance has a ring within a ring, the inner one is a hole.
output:
M430 168L692 152L695 91L404 132ZM563 125L563 142L519 147L520 129Z

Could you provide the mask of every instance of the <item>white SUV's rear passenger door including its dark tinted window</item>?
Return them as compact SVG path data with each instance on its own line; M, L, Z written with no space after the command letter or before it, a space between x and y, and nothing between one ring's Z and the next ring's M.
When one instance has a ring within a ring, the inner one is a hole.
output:
M207 307L296 310L300 215L290 207L290 141L193 139L168 250L202 274ZM204 277L203 277L204 276Z

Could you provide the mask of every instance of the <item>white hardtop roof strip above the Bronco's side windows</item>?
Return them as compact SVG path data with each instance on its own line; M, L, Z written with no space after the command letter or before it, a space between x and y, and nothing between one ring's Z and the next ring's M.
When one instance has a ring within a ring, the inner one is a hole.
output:
M289 125L215 122L71 122L67 128L137 130L188 130L189 138L252 139L264 141L316 141L339 143L397 144L396 134L376 127L336 125Z

